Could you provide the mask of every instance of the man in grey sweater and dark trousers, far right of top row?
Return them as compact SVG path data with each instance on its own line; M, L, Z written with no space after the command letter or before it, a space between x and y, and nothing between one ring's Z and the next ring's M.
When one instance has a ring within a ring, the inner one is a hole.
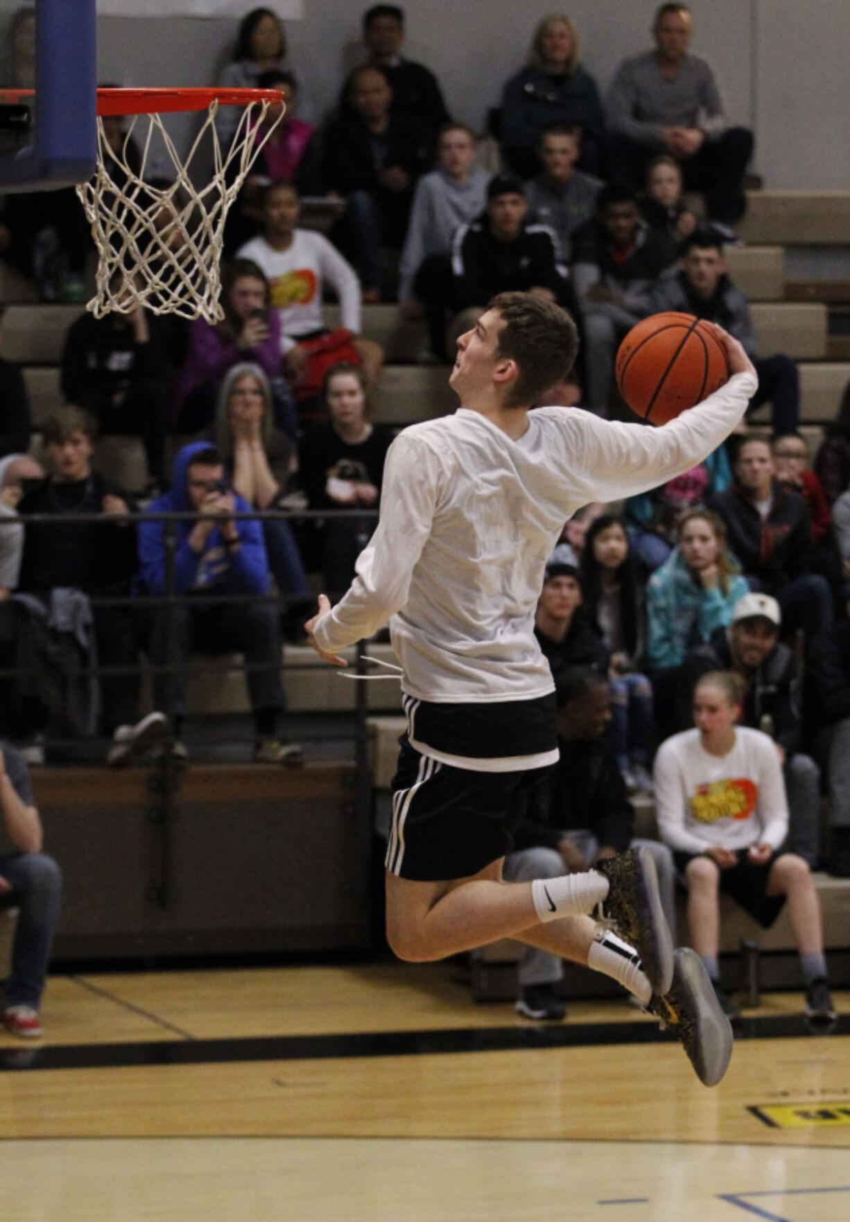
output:
M723 114L714 73L689 55L692 17L684 4L656 12L656 50L624 60L608 95L608 177L637 186L646 163L669 153L682 167L685 188L701 191L708 216L733 225L744 215L744 175L752 132Z

